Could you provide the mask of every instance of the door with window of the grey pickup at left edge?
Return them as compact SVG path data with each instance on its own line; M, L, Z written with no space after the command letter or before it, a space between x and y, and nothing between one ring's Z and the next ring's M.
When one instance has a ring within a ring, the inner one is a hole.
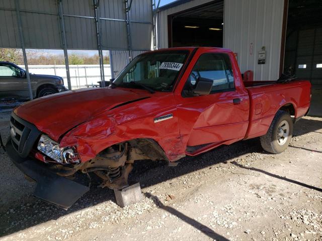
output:
M20 77L20 70L7 63L0 64L0 98L28 97L27 78Z

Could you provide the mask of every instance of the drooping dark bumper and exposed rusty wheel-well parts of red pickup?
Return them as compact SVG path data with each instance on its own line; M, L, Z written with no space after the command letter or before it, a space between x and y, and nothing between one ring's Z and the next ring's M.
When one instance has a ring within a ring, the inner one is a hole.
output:
M88 186L70 179L77 171L96 174L102 179L102 188L123 189L128 186L128 176L135 160L165 159L162 153L159 154L155 150L150 150L149 156L144 155L139 147L144 149L146 145L157 144L152 140L122 143L105 149L88 162L73 165L63 165L45 156L42 156L43 162L30 157L22 158L14 148L11 138L6 149L9 157L26 177L37 182L34 192L36 197L68 209L90 190ZM35 156L37 157L37 153Z

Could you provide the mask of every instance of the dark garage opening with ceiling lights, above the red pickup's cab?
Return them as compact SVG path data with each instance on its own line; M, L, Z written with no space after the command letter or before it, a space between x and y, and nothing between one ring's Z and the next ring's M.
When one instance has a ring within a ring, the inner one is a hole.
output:
M169 47L222 47L223 27L223 1L170 15Z

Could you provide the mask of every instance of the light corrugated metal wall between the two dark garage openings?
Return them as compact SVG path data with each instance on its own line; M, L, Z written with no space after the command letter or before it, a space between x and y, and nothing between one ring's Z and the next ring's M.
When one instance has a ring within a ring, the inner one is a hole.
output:
M256 80L278 79L284 1L225 0L224 5L224 47L237 53L241 72L253 70ZM266 63L258 64L263 46Z

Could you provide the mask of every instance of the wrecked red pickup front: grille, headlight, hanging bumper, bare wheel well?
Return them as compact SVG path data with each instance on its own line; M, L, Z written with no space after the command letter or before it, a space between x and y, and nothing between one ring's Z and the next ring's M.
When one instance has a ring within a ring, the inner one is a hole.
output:
M14 113L10 127L7 153L29 179L37 182L34 195L64 209L90 190L88 186L71 180L78 171L94 173L102 179L101 187L118 190L128 186L134 161L168 160L154 140L135 139L112 145L82 162L76 146L61 148Z

